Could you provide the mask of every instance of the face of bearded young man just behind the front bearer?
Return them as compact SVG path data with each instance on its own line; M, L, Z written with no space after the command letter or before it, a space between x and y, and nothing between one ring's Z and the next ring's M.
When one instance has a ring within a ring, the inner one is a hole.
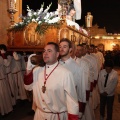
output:
M59 44L59 49L61 57L70 55L71 48L69 48L69 44L67 42L61 42Z

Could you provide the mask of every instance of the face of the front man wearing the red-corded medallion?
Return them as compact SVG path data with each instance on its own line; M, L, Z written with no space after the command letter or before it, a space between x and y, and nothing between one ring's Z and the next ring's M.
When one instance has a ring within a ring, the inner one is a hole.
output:
M46 64L52 65L57 62L59 52L56 52L54 45L46 45L43 52L43 60Z

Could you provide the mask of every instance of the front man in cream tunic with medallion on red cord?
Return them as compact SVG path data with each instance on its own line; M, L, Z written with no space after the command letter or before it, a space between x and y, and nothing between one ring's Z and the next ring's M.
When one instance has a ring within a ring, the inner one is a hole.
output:
M24 80L33 90L34 120L78 120L78 99L73 75L58 62L59 47L49 42L43 52L45 67L33 70L33 81ZM32 64L27 69L32 70Z

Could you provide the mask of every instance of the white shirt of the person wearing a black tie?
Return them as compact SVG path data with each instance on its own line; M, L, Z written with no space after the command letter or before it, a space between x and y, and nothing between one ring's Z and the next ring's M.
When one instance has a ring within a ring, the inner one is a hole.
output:
M104 87L105 77L107 72L105 69L101 70L99 73L98 87L100 93L107 92L108 96L113 96L115 93L115 88L118 83L118 73L114 69L109 73L108 81L106 87Z

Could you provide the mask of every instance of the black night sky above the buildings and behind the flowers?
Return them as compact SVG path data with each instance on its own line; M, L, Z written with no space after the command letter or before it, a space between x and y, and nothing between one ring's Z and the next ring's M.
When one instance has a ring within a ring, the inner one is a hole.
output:
M23 0L23 10L26 5L33 10L39 9L42 3L45 8L52 2L50 11L57 9L57 0ZM108 33L120 33L120 0L81 0L82 18L76 21L80 26L85 26L87 12L93 15L93 25L106 28Z

